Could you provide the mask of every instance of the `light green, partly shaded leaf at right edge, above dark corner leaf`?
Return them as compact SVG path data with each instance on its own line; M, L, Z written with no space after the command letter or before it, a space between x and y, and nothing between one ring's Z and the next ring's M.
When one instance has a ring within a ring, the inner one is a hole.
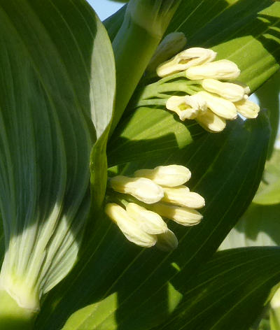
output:
M230 231L220 249L255 245L280 245L279 150L265 164L265 172L246 213Z

